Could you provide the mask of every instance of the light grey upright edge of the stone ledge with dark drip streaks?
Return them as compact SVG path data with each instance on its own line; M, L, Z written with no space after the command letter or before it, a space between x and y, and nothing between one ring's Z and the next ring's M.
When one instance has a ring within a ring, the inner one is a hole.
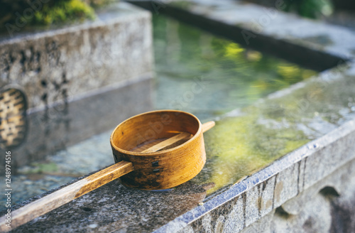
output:
M280 158L155 232L188 232L191 227L198 231L199 222L215 225L220 216L226 232L239 232L354 160L354 151L355 120ZM321 158L324 166L319 166ZM228 222L234 222L239 230L228 227Z

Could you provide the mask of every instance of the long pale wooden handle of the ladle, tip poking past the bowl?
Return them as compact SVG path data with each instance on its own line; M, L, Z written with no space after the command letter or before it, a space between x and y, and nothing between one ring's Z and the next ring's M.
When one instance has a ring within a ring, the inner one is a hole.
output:
M202 124L202 131L205 132L211 129L213 126L214 121L209 121L205 124ZM188 133L180 133L176 136L181 134L185 135ZM175 143L176 141L171 139L176 136L173 136L170 139L166 139L165 141L168 141L169 145ZM190 136L190 134L188 134L188 136ZM167 145L165 144L165 146ZM115 163L114 165L109 166L104 170L100 170L97 173L89 175L87 178L78 180L77 182L72 183L65 188L35 200L34 202L31 202L30 204L25 205L18 210L11 211L11 227L6 226L6 215L0 217L0 231L8 232L15 227L35 219L35 217L39 217L40 215L44 215L51 210L55 210L56 208L65 205L67 202L70 202L75 198L84 195L85 193L89 193L90 191L99 188L100 186L105 185L110 181L121 177L122 175L126 175L133 170L134 168L131 162L121 161L119 163Z

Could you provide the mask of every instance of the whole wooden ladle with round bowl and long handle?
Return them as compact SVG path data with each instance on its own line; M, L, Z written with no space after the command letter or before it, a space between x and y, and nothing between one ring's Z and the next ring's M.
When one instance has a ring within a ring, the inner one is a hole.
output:
M143 190L172 188L200 173L206 161L202 133L214 121L201 124L187 112L147 112L119 124L111 134L115 164L78 180L0 218L1 232L44 215L77 197L121 177L124 185ZM173 148L171 148L173 147Z

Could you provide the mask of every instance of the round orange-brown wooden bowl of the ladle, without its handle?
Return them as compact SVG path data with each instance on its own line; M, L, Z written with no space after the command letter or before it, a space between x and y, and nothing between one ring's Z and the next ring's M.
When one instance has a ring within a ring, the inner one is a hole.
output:
M187 133L160 151L146 152L161 141ZM111 134L114 160L133 163L134 170L121 183L142 190L173 188L200 173L206 162L202 124L196 116L163 110L133 116Z

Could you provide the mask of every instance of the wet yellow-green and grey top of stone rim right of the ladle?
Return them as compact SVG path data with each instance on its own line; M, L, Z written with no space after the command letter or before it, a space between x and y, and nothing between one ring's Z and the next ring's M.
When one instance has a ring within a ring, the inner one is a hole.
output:
M193 181L215 183L213 193L355 119L355 77L318 81L217 121L204 134L207 163Z

